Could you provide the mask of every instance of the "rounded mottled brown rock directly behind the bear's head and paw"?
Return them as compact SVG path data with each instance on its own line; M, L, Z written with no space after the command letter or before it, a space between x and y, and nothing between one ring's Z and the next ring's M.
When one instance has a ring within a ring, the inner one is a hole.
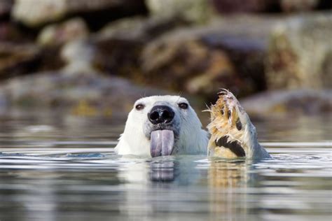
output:
M209 48L200 38L166 39L144 48L141 68L146 83L191 94L215 94L221 82L230 86L226 84L240 81L222 50Z

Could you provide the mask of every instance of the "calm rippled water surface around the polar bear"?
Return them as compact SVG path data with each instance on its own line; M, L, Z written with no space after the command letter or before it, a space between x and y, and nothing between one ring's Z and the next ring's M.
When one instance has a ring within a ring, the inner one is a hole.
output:
M273 156L262 162L119 157L124 122L0 115L0 220L332 218L331 115L254 120Z

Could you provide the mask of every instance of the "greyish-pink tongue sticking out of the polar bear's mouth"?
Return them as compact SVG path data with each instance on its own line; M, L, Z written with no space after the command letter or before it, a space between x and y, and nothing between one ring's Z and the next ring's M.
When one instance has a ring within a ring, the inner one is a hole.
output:
M151 132L151 157L171 155L174 147L174 133L169 129Z

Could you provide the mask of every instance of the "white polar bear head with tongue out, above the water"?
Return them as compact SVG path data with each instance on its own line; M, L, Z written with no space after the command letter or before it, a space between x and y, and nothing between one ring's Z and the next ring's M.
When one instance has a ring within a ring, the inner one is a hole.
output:
M146 157L203 154L207 143L207 131L186 99L152 96L135 102L116 152Z

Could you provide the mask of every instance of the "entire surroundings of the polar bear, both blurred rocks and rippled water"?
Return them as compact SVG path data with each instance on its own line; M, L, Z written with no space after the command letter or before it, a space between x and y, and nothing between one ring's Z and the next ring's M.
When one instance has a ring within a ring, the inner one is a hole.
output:
M0 0L0 220L331 221L331 87L331 0ZM114 154L136 99L205 128L221 88L273 159Z

